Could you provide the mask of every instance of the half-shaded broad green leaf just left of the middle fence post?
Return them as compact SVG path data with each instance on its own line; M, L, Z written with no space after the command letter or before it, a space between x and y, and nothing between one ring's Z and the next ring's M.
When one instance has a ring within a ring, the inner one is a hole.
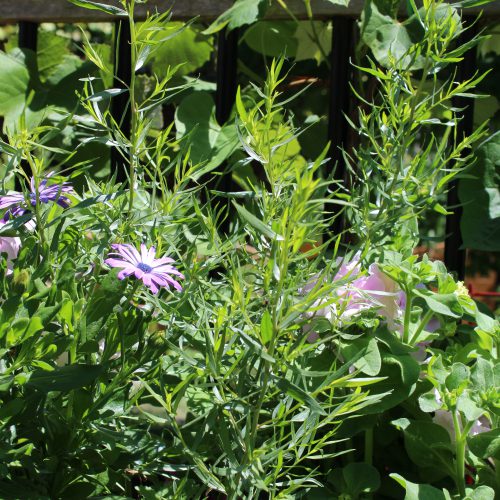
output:
M189 134L190 158L206 163L204 171L218 167L238 147L238 134L232 124L220 126L215 104L208 92L193 92L184 98L175 113L177 138Z

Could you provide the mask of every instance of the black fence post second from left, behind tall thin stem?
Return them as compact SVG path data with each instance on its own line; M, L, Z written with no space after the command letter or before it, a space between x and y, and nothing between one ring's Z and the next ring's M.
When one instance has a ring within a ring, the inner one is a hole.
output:
M115 76L113 79L113 87L115 88L130 86L132 75L132 47L130 43L130 25L128 20L115 21ZM111 115L116 123L120 125L122 134L125 137L130 137L131 110L129 92L124 92L111 99ZM111 149L111 172L116 173L116 179L120 182L127 179L126 161L115 147Z

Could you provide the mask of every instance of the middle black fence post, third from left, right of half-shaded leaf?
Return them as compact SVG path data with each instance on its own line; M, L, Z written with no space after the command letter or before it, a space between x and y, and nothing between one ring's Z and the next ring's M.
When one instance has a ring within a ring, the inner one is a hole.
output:
M239 32L237 29L227 31L223 29L218 35L217 47L217 90L215 95L215 117L219 125L224 125L229 120L231 110L236 99L238 88L238 40ZM215 183L220 191L229 192L232 190L231 172L225 172L220 180L214 179L207 186L215 188ZM220 229L227 233L229 230L229 199L215 197L215 205L224 206L224 219L221 222Z

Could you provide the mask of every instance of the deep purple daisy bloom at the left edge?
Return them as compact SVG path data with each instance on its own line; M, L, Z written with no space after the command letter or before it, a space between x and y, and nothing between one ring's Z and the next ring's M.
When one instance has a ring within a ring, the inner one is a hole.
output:
M48 178L51 175L52 174L48 174L45 179L42 179L38 186L38 199L40 203L49 203L52 201L63 208L68 208L71 202L63 193L73 193L71 184L69 182L63 182L62 184L47 186ZM0 196L0 210L7 209L4 215L4 221L8 220L11 216L18 217L23 215L29 211L29 206L34 207L36 205L37 189L34 177L31 178L30 187L31 190L27 196L17 191Z

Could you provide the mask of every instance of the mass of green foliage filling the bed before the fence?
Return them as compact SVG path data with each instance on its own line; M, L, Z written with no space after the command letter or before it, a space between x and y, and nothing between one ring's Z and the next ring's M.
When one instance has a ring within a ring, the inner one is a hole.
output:
M0 54L15 73L0 90L6 177L22 182L29 170L39 182L72 165L82 186L68 209L35 199L34 214L0 226L22 245L0 269L0 496L493 498L498 321L442 264L412 255L419 220L442 211L439 193L482 135L455 138L460 110L449 104L480 79L440 76L467 48L453 46L456 10L427 0L397 25L394 6L367 4L376 62L360 71L379 91L359 113L348 190L324 174L326 144L310 161L301 150L283 58L219 124L213 86L186 76L208 59L207 35L167 15L136 23L133 1L75 3L129 20L131 80L113 87L109 53L88 40L88 62L61 44L52 62L44 51L37 63L25 50ZM330 34L305 4L307 57L321 61ZM267 5L238 0L208 33L249 24ZM269 25L255 26L249 47L267 36ZM306 53L304 36L283 35L290 54ZM407 45L388 50L395 40ZM111 112L123 95L130 135ZM76 159L96 146L123 158L126 182L98 182L95 162ZM221 166L239 191L207 189ZM339 208L357 245L322 240ZM184 290L153 295L119 280L104 260L123 242L173 257ZM354 260L358 247L360 273L376 263L392 292L348 316L351 278L336 277L337 256ZM396 293L405 305L389 321L383 297ZM488 432L473 435L480 424Z

